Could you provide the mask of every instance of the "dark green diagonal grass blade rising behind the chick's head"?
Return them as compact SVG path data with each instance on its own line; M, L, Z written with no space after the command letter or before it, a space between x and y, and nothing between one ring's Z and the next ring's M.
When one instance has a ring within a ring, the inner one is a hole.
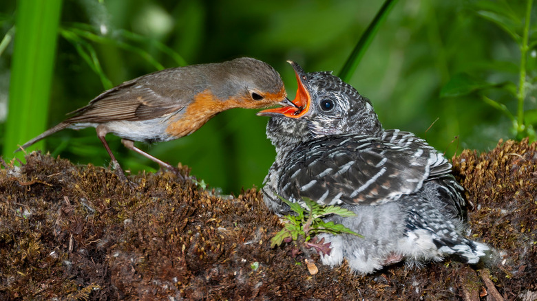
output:
M345 65L341 68L341 71L339 71L339 78L345 82L350 80L350 77L355 73L355 70L360 63L361 58L371 44L371 41L373 41L375 34L379 31L379 27L382 25L388 14L390 14L390 10L396 2L397 0L386 0L386 2L384 2L379 12L377 12L377 15L375 15L375 19L371 21L364 34L360 36L355 49L352 50Z

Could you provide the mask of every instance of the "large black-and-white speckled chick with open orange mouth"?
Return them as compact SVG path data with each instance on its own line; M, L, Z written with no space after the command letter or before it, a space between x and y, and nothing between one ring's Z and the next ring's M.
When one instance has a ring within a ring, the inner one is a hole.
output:
M463 188L451 164L413 133L384 130L370 101L331 72L306 74L290 62L298 81L295 106L261 111L277 156L264 181L264 201L277 214L300 203L339 205L356 214L329 216L364 236L321 234L331 251L326 265L348 260L368 274L406 260L421 266L445 256L476 264L491 250L463 236Z

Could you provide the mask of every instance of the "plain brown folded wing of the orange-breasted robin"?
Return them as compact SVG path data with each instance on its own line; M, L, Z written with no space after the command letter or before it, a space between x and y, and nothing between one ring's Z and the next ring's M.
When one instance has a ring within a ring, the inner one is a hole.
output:
M173 68L123 82L94 98L65 122L107 122L149 120L185 108L204 89L189 69ZM191 85L192 84L192 85Z

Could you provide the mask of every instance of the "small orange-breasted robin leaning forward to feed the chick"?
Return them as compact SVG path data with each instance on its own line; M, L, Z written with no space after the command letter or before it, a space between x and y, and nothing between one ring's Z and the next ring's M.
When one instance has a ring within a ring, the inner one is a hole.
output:
M259 109L275 104L293 106L280 74L254 58L191 65L156 71L104 91L70 118L26 142L35 142L66 128L96 128L112 165L123 175L105 136L123 138L125 147L160 166L175 170L134 146L134 141L162 142L190 135L214 115L232 108ZM123 176L124 177L124 176Z

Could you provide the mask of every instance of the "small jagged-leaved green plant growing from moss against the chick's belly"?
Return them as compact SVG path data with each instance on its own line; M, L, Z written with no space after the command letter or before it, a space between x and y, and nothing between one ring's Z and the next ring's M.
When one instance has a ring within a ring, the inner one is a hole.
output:
M304 242L310 241L312 236L319 233L330 234L352 234L360 237L360 234L353 232L348 227L341 224L335 224L333 221L325 223L322 219L328 215L336 214L343 217L355 216L356 214L345 208L339 206L322 206L311 199L304 198L304 203L308 206L309 210L302 208L298 203L293 203L280 196L278 196L284 203L289 205L291 210L296 215L288 214L285 216L288 223L285 224L284 229L271 239L271 247L282 245L282 243L290 243L291 241L297 241L299 237L304 238ZM326 252L326 250L324 250Z

